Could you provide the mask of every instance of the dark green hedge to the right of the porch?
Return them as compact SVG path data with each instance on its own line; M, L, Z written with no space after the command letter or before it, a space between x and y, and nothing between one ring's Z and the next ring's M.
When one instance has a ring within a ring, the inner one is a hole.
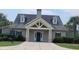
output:
M52 42L54 42L54 43L75 43L75 44L79 44L79 38L74 39L74 38L70 38L70 37L58 37L58 38L55 38Z

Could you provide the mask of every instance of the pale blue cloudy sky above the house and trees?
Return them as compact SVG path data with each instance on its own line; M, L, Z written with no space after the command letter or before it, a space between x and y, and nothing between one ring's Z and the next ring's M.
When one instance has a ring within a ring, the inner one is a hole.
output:
M36 14L36 9L0 9L0 13L6 15L9 21L14 21L17 14ZM66 24L70 17L79 16L79 9L42 9L43 15L58 15L63 24Z

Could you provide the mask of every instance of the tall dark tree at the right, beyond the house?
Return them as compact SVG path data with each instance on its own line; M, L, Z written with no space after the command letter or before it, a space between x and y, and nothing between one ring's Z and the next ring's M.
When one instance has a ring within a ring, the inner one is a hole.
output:
M78 16L74 16L71 17L70 20L67 22L67 24L65 25L69 31L73 31L74 33L74 38L76 38L76 25L79 24L79 17Z

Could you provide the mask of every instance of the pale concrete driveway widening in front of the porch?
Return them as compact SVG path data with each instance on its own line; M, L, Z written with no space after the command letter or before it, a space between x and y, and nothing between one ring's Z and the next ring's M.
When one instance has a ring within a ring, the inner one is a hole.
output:
M0 47L0 50L69 50L54 43L23 42L16 46Z

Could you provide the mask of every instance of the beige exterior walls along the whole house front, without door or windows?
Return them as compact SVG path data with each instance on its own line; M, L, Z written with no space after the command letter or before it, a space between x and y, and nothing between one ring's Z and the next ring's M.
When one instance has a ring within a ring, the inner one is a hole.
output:
M22 32L22 36L26 38L26 29L14 29L15 31L21 31ZM49 30L33 30L30 29L29 30L29 41L30 42L36 42L35 40L35 32L40 31L43 34L43 42L48 42L48 34L49 34ZM61 36L67 36L67 33L65 31L53 31L52 30L52 40L55 38L55 33L56 32L61 32ZM3 29L2 33L10 33L10 29Z

